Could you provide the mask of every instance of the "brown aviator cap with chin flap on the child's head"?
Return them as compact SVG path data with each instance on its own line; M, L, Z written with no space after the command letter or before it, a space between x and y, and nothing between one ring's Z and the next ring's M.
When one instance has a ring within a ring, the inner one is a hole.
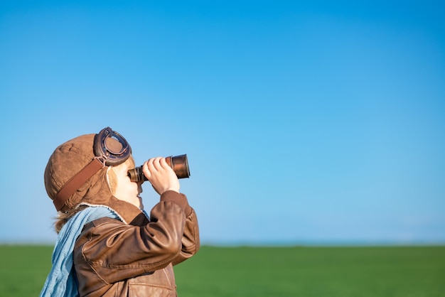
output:
M141 211L134 205L118 200L112 195L107 182L109 166L105 166L103 160L101 163L95 158L95 136L97 138L97 135L78 136L55 149L45 168L46 192L54 201L57 210L68 211L79 204L105 205L119 213L124 221L132 222L136 217L140 217ZM102 140L104 147L111 147L116 151L122 147L122 144L113 138ZM85 170L85 168L87 169ZM85 174L83 177L79 178L79 176L85 171L89 171L87 179L82 180L82 178L85 179ZM60 192L63 192L63 189L67 187L73 189L65 190L63 202L57 203L60 200L58 197Z

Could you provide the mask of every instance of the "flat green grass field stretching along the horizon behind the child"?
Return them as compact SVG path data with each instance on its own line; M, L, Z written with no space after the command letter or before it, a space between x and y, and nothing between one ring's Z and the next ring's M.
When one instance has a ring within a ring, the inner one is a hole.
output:
M0 246L0 296L38 296L52 247ZM444 296L445 247L202 247L180 297Z

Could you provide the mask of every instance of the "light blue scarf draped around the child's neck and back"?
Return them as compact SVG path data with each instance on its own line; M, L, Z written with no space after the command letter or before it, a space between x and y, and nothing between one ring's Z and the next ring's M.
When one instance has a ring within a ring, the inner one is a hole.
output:
M40 297L79 296L73 266L74 245L80 232L82 232L83 226L101 217L119 219L119 216L107 207L92 206L77 212L63 225L55 242L53 267L45 281Z

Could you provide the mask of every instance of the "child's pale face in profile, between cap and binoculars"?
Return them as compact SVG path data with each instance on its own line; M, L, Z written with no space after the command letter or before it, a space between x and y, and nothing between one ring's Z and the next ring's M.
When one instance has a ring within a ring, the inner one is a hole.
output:
M142 204L142 198L139 196L142 193L141 183L134 183L128 176L128 171L131 165L129 162L122 163L119 166L114 167L114 173L117 176L117 185L114 190L114 197L119 200L124 200L132 205L136 205L141 209L144 208Z

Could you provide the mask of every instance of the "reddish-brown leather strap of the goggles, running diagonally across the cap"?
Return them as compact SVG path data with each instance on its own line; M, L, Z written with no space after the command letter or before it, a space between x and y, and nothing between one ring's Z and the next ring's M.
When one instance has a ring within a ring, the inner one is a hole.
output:
M68 198L71 197L75 193L75 191L80 188L92 175L95 175L97 171L100 171L100 168L104 167L104 162L100 161L99 158L94 158L92 161L85 166L81 171L79 171L76 175L73 176L70 180L68 180L65 185L60 189L59 193L53 200L55 205L55 209L60 211L65 205L65 202Z

